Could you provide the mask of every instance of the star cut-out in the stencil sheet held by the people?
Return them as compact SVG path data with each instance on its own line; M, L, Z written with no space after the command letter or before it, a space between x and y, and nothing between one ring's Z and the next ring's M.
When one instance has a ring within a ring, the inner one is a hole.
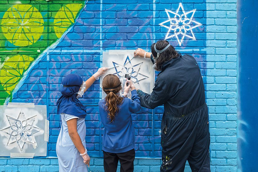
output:
M118 78L124 78L125 74L129 74L130 77L132 78L133 83L137 83L138 86L140 86L139 82L142 80L145 80L147 78L149 78L148 76L145 76L143 74L140 73L140 69L141 69L141 65L143 62L138 63L136 65L132 65L129 56L126 57L126 60L124 62L124 65L120 65L114 61L112 61L116 73L114 73L113 75L117 75ZM129 67L126 67L126 65L129 64ZM121 70L118 70L118 67L122 67ZM134 69L134 68L138 68L138 69Z

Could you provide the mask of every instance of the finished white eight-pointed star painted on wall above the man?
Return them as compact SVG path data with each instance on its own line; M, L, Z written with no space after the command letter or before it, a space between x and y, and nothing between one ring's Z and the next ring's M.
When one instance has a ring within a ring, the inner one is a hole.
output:
M180 8L181 8L181 11L183 12L183 14L181 15L179 14ZM165 9L165 11L167 13L169 20L166 20L165 22L162 22L159 24L160 26L163 26L169 29L166 34L165 40L169 38L173 38L175 36L177 38L177 42L179 46L182 45L182 42L185 36L193 40L196 40L192 29L202 26L202 24L193 20L193 16L196 9L185 12L182 3L179 3L179 7L176 12L170 11L168 9ZM171 18L169 13L174 14L175 15L174 18ZM190 13L192 13L192 15L190 18L188 18L187 15ZM164 25L167 22L170 23L170 26ZM173 31L174 33L169 35L171 31ZM183 35L181 39L178 37L179 34Z

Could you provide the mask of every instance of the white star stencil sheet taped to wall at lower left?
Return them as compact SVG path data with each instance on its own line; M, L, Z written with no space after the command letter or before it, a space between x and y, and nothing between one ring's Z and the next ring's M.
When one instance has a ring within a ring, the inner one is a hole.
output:
M9 104L0 106L0 156L46 156L46 106Z

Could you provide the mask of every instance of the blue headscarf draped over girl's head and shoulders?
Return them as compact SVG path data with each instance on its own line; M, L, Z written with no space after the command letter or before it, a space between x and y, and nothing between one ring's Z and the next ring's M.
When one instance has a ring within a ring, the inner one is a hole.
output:
M62 82L62 96L56 102L57 114L66 113L79 118L86 117L86 107L76 98L83 83L81 76L68 74Z

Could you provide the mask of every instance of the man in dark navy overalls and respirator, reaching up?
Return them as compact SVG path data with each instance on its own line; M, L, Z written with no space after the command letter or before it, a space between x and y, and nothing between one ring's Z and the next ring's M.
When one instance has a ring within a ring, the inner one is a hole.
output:
M183 172L186 160L192 172L210 172L208 107L200 68L190 55L181 55L165 40L137 49L134 55L150 58L161 71L153 92L137 90L142 107L164 105L161 121L162 172Z

